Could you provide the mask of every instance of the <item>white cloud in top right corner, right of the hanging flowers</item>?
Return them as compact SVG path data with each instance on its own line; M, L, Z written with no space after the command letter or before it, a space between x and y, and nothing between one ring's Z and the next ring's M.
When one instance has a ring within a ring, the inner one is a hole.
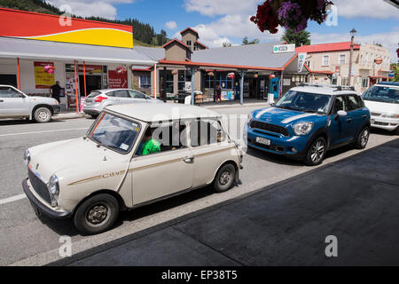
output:
M374 19L399 19L399 11L391 4L379 0L333 0L338 16L344 18L367 17Z

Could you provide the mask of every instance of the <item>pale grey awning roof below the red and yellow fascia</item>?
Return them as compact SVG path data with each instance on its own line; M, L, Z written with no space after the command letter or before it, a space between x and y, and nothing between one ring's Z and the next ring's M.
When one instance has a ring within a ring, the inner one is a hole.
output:
M86 63L118 63L153 66L155 60L119 47L56 43L0 36L0 58L79 60Z

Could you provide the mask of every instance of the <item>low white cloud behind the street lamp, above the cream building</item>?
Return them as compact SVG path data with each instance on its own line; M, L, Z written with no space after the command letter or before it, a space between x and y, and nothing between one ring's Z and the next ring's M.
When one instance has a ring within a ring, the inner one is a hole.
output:
M356 43L381 43L384 48L391 51L391 62L397 62L397 44L399 39L399 30L374 34L369 36L355 36ZM349 34L311 34L312 44L317 43L340 43L348 42L350 40Z

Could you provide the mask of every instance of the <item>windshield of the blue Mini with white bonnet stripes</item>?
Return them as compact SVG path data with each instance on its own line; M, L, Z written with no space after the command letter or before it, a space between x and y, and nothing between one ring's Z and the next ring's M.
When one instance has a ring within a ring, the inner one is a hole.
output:
M302 91L287 91L276 106L306 113L327 114L331 97Z

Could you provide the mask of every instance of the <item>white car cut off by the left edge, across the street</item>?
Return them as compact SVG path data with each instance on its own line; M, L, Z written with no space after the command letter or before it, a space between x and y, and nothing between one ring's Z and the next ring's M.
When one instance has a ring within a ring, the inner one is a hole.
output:
M59 114L59 101L52 98L29 97L10 85L0 85L0 118L28 118L50 122Z

